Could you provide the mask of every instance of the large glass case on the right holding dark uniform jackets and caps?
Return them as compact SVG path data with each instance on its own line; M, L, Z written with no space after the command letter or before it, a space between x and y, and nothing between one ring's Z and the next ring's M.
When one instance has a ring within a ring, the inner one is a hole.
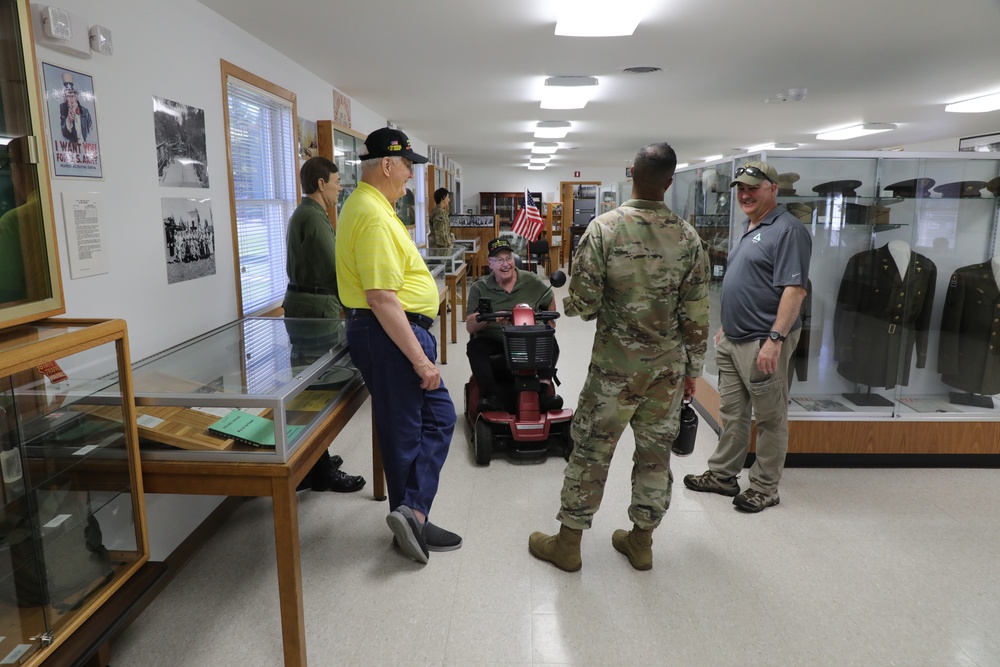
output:
M761 153L715 165L729 170L715 178L728 185L732 169L759 159L813 238L790 419L1000 420L1000 159ZM696 171L675 179L675 196L694 191L694 207L675 205L697 219L707 189ZM725 215L738 238L745 216L738 206ZM714 332L717 288L711 299ZM706 362L714 385L711 350Z

